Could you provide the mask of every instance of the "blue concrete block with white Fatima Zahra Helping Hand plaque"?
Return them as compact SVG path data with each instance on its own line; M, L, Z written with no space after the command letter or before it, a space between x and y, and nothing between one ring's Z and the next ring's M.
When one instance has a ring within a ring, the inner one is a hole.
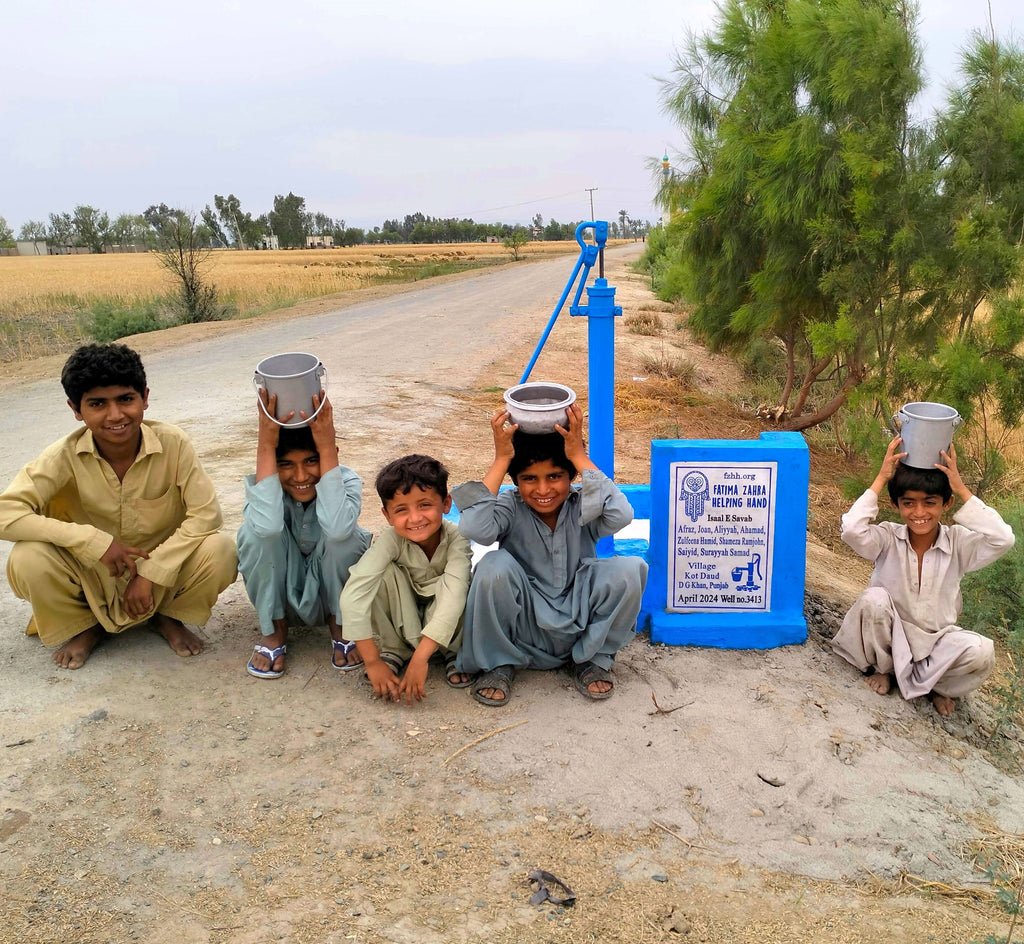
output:
M652 642L768 649L807 639L810 461L799 433L651 443Z

